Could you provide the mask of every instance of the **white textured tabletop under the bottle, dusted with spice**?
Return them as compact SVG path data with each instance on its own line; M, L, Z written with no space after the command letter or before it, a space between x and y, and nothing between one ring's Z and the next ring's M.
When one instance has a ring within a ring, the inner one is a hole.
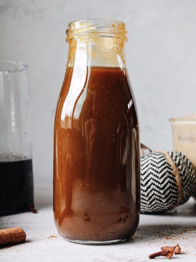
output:
M175 261L196 261L196 205L191 198L176 211L162 215L141 215L138 230L131 240L113 245L90 246L70 243L57 233L52 206L36 206L37 214L21 213L0 217L0 227L19 226L26 242L0 249L0 261L150 261L148 255L161 246L179 243L183 254ZM167 261L156 258L153 261Z

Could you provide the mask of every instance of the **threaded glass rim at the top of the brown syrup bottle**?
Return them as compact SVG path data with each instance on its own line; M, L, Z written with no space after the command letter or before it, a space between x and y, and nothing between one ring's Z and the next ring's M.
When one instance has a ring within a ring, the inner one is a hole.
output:
M128 41L126 25L114 19L83 19L70 22L66 30L66 41L78 38L116 37Z

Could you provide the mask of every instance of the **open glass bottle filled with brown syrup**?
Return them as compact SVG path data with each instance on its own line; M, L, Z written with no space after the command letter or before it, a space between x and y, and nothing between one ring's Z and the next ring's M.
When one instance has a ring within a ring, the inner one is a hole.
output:
M125 61L125 24L71 22L54 127L54 217L82 244L121 242L140 212L140 142Z

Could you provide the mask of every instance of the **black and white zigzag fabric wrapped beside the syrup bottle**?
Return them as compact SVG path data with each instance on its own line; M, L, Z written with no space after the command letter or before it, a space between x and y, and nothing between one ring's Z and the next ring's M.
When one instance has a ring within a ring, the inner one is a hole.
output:
M168 152L179 170L181 199L185 203L193 194L195 172L190 160L182 153ZM179 187L173 168L165 155L153 151L141 156L141 213L170 210L177 204Z

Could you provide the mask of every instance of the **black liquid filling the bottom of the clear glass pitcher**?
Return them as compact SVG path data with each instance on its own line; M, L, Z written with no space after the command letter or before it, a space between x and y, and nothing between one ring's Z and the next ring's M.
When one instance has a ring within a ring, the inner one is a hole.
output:
M32 159L0 162L0 216L27 211L33 203Z

